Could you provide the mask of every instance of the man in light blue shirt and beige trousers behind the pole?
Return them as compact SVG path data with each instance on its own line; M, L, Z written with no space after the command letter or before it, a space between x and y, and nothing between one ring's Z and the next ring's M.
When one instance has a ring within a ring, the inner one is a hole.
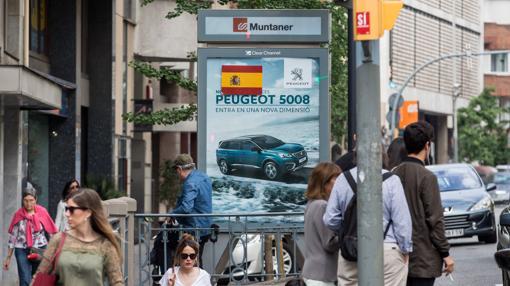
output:
M382 154L385 158L384 152ZM356 157L355 157L356 158ZM385 161L383 160L383 164ZM351 199L354 198L358 168L342 172L336 180L324 214L324 224L339 233L345 231L344 217ZM384 231L384 285L403 286L406 284L409 253L413 251L412 223L409 208L405 200L402 184L397 176L382 170L382 199ZM356 217L354 217L356 218ZM342 237L342 236L341 236ZM341 245L342 245L342 238ZM338 256L338 285L358 285L357 262Z

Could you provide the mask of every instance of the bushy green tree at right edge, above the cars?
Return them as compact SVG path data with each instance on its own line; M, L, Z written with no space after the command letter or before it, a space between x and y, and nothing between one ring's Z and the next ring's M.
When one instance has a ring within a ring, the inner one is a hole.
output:
M499 121L508 109L499 107L498 99L485 89L471 99L469 106L458 110L459 157L482 165L506 164L509 160L507 122Z

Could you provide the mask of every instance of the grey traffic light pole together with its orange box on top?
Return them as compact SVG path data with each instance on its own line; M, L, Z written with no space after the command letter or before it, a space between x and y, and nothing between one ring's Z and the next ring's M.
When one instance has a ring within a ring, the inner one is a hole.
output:
M356 51L356 158L358 166L358 285L383 286L381 88L379 38L391 30L404 3L353 1ZM395 100L398 102L398 100Z

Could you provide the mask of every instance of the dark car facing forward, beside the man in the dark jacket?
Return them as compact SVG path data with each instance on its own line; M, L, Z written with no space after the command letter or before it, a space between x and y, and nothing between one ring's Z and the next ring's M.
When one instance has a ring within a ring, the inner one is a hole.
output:
M489 184L486 187L468 164L432 165L427 168L436 175L441 191L446 237L477 235L480 242L495 243L494 201L488 192L496 186Z

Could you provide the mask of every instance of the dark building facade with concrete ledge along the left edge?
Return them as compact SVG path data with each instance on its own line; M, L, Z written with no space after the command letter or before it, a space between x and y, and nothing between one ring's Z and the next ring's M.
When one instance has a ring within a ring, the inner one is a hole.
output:
M145 194L145 184L133 188L132 176L139 175L135 163L150 167L150 149L122 120L133 110L128 63L138 6L132 0L0 1L2 259L28 184L52 215L72 178ZM133 146L143 152L133 154ZM0 272L0 284L17 285L15 264Z

